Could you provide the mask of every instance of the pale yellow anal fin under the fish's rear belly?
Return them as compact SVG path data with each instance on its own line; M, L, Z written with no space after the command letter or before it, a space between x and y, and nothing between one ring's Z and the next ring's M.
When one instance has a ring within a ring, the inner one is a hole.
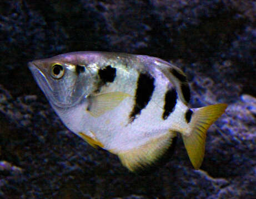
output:
M152 166L172 145L173 138L177 134L168 132L161 137L154 138L139 148L121 151L117 153L121 163L132 172L143 170Z

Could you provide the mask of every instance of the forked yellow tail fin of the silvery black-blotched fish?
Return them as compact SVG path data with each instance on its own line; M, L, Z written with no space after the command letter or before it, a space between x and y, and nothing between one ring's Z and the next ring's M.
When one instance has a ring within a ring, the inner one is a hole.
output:
M227 104L215 104L202 108L194 108L191 120L191 132L182 134L189 159L195 169L199 169L204 159L206 133L225 111Z

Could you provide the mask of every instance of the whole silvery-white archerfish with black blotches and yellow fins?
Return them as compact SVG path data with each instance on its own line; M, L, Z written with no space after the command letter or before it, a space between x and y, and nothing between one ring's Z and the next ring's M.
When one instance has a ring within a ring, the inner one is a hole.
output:
M170 153L178 135L199 169L207 130L227 108L190 108L186 75L157 57L78 51L28 67L64 125L94 148L117 155L132 172Z

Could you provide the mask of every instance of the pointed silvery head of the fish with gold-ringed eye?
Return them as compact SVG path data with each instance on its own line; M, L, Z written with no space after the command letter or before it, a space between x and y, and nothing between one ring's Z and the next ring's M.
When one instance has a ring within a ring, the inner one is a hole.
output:
M78 74L78 66L83 74ZM28 63L28 67L44 95L54 106L75 106L92 90L91 72L86 70L86 66L75 55L34 60Z

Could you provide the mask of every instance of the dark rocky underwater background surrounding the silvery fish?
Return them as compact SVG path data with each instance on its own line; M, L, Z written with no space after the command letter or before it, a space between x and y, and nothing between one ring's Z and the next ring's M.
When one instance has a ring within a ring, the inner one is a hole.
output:
M0 42L0 198L256 198L255 1L6 0ZM69 132L27 62L80 50L162 58L188 75L192 107L228 103L200 170L181 138L140 176Z

